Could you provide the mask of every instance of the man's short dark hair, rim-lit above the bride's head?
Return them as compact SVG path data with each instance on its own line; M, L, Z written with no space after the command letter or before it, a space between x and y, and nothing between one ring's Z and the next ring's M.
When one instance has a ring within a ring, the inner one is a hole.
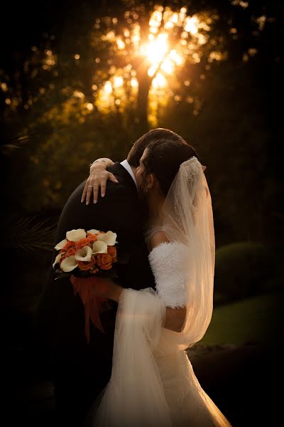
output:
M157 129L149 130L149 132L137 139L131 147L127 156L127 161L130 166L138 167L139 160L142 157L144 149L146 149L151 142L158 141L159 139L170 139L171 141L180 141L186 144L185 140L172 130L164 129L163 127L157 127Z

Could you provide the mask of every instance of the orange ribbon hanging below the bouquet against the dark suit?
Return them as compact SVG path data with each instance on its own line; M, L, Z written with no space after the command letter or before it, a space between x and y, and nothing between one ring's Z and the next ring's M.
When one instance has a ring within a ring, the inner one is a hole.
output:
M84 332L86 334L87 343L89 344L89 319L98 330L103 332L102 322L99 317L103 310L103 302L108 301L105 297L96 297L91 294L92 286L94 283L89 281L88 278L77 278L74 275L71 276L70 282L73 285L74 295L80 295L82 303L84 305Z

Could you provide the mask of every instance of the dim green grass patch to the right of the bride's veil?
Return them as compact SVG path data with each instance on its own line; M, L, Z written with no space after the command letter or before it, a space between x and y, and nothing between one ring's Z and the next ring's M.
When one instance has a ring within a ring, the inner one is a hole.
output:
M283 292L266 293L216 307L198 344L275 344L282 337Z

